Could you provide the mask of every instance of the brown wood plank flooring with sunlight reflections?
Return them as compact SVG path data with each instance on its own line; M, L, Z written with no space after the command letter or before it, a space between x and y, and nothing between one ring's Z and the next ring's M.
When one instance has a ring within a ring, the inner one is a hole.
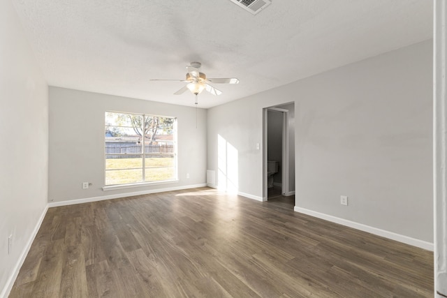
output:
M433 254L212 188L50 208L9 297L433 297Z

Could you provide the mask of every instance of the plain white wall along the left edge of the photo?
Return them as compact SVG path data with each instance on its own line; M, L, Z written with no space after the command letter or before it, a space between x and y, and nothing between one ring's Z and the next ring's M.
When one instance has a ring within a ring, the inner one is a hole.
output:
M47 84L11 1L0 1L0 297L47 204ZM13 234L8 255L8 236Z

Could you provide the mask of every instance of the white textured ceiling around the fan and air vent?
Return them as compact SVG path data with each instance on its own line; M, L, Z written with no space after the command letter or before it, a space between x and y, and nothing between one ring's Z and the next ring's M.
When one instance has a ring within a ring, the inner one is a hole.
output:
M430 0L11 0L51 86L194 105L173 93L184 66L240 84L200 107L299 80L432 37Z

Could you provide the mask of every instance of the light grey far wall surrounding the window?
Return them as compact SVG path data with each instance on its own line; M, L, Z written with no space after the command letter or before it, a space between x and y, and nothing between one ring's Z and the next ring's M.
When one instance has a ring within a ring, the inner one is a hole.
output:
M177 117L179 181L103 191L106 111ZM194 107L50 87L50 202L205 184L207 111L198 109L197 112L196 128ZM186 173L190 174L189 179ZM93 185L82 189L83 181Z

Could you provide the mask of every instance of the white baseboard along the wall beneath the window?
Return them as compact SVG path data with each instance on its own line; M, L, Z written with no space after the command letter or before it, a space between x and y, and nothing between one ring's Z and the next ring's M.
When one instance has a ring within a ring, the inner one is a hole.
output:
M205 186L207 186L207 184L195 184L195 185L168 187L168 188L157 188L157 189L151 189L148 191L135 191L133 193L117 193L115 195L103 195L101 197L66 200L66 201L61 201L61 202L49 202L48 207L60 207L60 206L83 204L83 203L89 203L89 202L98 202L98 201L103 201L103 200L112 200L112 199L133 197L135 195L148 195L149 193L163 193L165 191L180 191L182 189L198 188L198 187L205 187Z

